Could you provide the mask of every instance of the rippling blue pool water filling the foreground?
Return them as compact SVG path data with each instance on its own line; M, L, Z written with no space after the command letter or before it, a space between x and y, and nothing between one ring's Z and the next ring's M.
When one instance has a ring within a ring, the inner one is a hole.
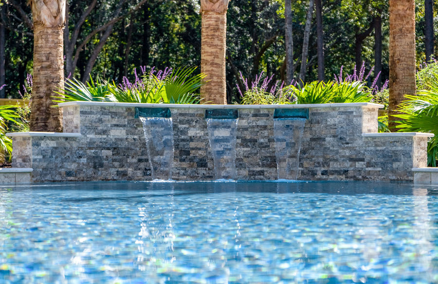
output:
M438 187L0 188L3 283L438 283Z

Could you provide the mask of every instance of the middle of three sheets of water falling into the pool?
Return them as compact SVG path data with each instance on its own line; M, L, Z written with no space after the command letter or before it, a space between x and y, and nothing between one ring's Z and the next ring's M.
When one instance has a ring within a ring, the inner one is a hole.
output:
M216 179L236 178L237 119L208 118L207 129Z

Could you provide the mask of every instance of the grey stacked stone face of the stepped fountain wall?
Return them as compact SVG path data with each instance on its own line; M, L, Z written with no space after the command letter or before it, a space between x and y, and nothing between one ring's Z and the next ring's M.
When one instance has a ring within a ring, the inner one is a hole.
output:
M34 182L151 179L143 126L134 118L134 104L60 105L64 132L81 136L14 136L13 167L33 168ZM224 106L160 105L166 106L174 131L172 178L214 179L204 114L205 108ZM380 105L225 106L239 109L236 179L277 178L275 107L310 109L301 143L299 180L412 181L412 168L426 167L426 136L363 135L377 133Z

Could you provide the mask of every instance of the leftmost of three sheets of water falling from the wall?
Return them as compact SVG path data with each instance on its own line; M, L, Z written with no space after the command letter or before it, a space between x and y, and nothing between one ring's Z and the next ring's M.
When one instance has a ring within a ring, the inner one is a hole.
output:
M152 179L171 179L174 151L172 118L140 117L140 119L145 132Z

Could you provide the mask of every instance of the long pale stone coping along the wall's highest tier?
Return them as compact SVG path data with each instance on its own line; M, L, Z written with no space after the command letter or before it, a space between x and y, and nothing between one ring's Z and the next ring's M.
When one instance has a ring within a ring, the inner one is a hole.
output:
M74 101L59 103L58 106L115 106L139 108L191 108L191 109L296 109L296 108L338 108L338 107L370 107L382 109L384 106L375 103L337 103L337 104L293 104L293 105L188 105L188 104L139 104Z

